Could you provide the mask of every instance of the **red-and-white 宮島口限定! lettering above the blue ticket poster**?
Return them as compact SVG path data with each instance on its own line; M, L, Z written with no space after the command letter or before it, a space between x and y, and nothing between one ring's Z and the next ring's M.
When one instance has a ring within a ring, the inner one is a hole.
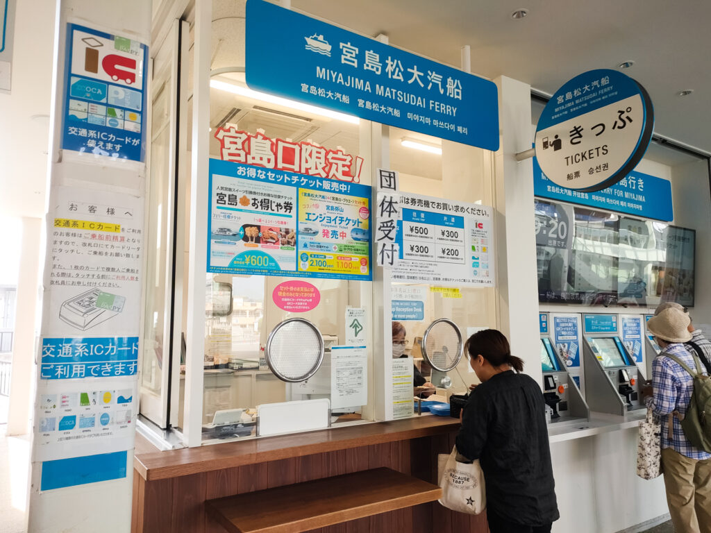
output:
M260 130L250 134L233 126L218 128L215 139L220 141L223 161L360 183L363 158L353 157L340 149L328 150L306 141L269 139Z

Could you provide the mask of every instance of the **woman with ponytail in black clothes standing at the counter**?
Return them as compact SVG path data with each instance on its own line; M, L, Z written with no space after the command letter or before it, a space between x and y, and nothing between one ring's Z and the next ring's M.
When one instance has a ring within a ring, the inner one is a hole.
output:
M523 361L500 331L474 333L466 350L481 384L462 409L456 449L479 459L489 529L548 533L559 515L540 387L520 374Z

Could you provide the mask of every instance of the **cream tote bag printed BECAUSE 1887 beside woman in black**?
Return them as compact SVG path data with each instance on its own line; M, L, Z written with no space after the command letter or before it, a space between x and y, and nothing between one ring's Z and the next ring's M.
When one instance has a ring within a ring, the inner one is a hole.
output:
M456 460L456 446L449 455L437 457L439 486L442 498L439 503L453 511L479 515L486 509L486 489L479 459L474 463Z

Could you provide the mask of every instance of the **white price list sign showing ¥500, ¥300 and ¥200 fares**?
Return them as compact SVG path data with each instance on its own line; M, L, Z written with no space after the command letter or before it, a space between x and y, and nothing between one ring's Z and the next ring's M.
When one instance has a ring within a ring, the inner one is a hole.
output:
M491 208L402 195L393 281L494 285Z

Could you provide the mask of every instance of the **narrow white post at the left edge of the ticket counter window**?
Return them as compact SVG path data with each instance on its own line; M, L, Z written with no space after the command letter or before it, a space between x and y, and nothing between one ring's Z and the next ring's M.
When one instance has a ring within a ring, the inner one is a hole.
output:
M203 421L205 357L205 257L208 244L208 165L210 157L210 51L212 2L196 3L193 68L193 168L190 198L190 266L188 267L188 327L186 338L184 435L188 446L200 446Z

